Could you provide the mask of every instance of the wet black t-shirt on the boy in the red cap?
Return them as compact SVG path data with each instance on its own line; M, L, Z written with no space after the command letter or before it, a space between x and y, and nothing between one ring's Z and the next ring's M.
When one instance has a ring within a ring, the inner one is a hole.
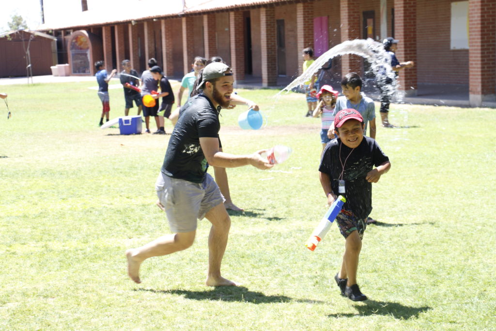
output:
M318 171L329 175L332 192L339 196L338 180L344 164L346 193L341 195L346 198L346 203L343 208L353 211L358 218L365 218L372 211L372 183L365 178L373 166L377 167L388 160L377 142L370 137L364 136L360 145L354 149L335 138L325 146Z

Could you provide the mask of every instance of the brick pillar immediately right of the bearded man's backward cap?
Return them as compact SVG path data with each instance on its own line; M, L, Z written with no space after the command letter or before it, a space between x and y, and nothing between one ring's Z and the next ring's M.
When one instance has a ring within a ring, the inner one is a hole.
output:
M229 13L229 31L231 44L231 67L234 79L245 80L245 31L243 11Z

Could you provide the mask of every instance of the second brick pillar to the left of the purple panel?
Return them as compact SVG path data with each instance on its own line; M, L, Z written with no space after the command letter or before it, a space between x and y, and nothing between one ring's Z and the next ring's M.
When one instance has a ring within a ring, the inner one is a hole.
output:
M277 84L277 45L274 8L260 9L262 86Z

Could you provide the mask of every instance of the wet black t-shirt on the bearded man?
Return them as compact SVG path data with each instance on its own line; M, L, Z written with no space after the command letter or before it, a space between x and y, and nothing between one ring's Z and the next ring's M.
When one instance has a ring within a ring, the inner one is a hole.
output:
M219 137L219 110L204 94L190 98L181 108L162 165L165 175L192 183L203 182L208 163L199 138Z

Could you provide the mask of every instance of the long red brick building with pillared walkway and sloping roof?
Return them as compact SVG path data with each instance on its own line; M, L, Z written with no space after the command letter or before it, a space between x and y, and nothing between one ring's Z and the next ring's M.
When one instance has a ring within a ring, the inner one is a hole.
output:
M154 57L168 76L180 77L194 56L218 55L237 82L271 86L301 74L305 47L320 55L345 40L394 36L398 59L416 63L400 75L407 94L419 84L452 84L469 90L473 106L495 100L495 0L122 0L112 7L67 0L65 17L54 14L60 1L43 3L42 29L58 38L59 63L71 64L70 45L84 30L101 43L93 48L107 69L129 59L143 70ZM363 70L356 56L333 61L337 79Z

